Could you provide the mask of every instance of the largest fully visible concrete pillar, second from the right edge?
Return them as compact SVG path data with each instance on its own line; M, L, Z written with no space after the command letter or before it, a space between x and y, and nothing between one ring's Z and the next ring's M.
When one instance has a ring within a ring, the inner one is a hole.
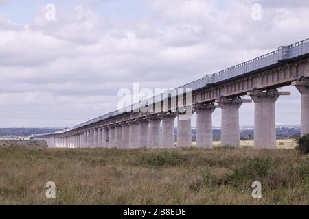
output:
M254 146L255 148L276 149L275 101L280 95L290 92L269 90L248 92L254 104Z

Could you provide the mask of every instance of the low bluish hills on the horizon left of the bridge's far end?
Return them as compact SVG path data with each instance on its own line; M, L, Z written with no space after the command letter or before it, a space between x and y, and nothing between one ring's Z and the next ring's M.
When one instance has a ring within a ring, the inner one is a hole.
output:
M0 128L0 136L31 136L61 131L65 128Z

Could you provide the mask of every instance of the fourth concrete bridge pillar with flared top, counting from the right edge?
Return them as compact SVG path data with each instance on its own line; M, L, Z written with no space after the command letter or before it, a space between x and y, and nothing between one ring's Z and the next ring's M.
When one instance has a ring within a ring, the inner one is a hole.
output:
M212 148L212 113L216 109L213 103L206 105L196 105L194 112L196 112L196 146Z

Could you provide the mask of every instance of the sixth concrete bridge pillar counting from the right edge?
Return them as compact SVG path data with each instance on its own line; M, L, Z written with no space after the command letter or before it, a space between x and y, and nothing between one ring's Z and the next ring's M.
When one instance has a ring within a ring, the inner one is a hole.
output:
M163 114L162 118L162 147L174 148L175 147L175 134L174 134L174 119L175 114Z

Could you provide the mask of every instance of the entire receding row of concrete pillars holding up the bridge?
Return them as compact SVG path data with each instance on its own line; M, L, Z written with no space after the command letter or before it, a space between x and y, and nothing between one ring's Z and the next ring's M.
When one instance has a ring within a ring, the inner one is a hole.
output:
M309 89L295 84L301 92L301 135L309 133ZM276 148L275 101L289 92L253 90L248 93L255 103L254 146ZM220 98L214 103L194 106L196 112L196 146L213 146L212 113L216 107L222 110L221 146L240 146L239 108L251 100ZM147 119L137 119L106 127L93 127L71 136L54 138L56 147L82 148L174 148L174 113L165 113ZM162 122L162 128L160 123ZM177 146L191 146L191 118L178 116Z

